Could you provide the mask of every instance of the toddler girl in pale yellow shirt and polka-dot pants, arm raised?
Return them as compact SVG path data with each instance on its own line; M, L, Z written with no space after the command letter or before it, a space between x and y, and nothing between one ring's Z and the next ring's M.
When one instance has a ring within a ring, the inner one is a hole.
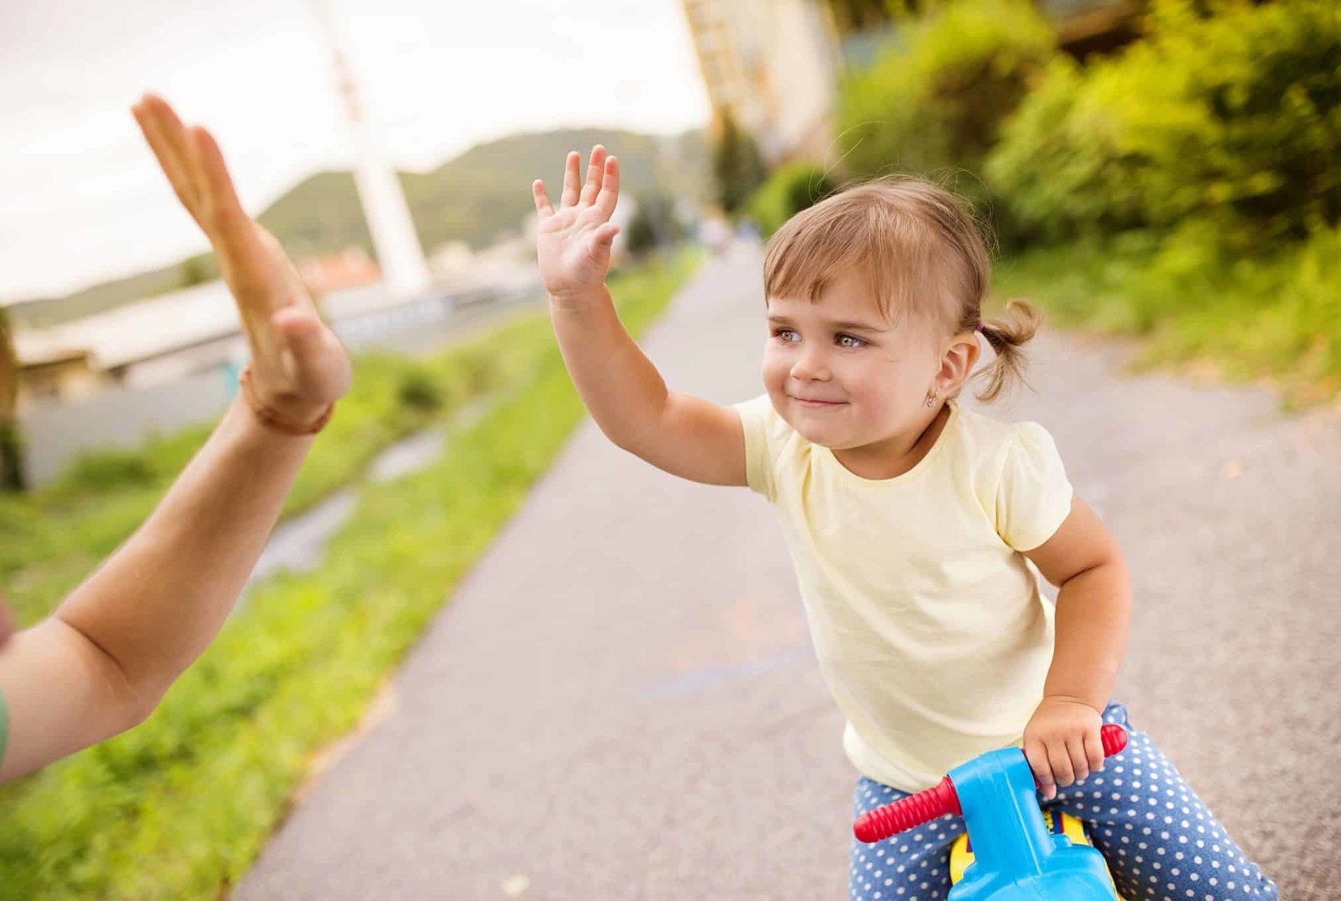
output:
M569 373L621 448L775 507L848 719L856 813L1021 744L1050 807L1089 827L1125 897L1274 900L1271 880L1110 697L1130 581L1051 436L959 402L980 341L996 354L979 396L991 401L1019 377L1038 328L1027 304L983 319L990 259L960 200L888 180L789 220L763 264L766 393L719 406L668 390L620 324L605 284L618 164L593 150L585 186L579 164L570 154L558 211L532 185ZM1059 586L1055 618L1030 562ZM1098 774L1105 721L1130 735L1113 774ZM963 829L941 819L856 843L849 896L943 900Z

